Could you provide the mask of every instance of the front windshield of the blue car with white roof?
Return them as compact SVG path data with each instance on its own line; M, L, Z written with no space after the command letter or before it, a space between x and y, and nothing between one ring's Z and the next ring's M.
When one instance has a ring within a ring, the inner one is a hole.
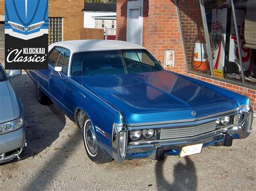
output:
M145 49L78 52L73 54L71 76L114 75L163 70Z

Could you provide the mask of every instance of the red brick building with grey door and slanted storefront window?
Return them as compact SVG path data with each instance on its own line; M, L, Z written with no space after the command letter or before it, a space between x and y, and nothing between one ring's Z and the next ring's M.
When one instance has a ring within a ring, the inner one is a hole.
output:
M143 45L166 69L250 97L255 111L254 12L253 0L117 0L117 40Z

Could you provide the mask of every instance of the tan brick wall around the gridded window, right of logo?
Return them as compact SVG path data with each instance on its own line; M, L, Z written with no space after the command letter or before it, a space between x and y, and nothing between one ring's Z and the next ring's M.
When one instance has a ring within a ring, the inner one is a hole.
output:
M49 17L63 17L63 40L80 39L84 0L49 0Z

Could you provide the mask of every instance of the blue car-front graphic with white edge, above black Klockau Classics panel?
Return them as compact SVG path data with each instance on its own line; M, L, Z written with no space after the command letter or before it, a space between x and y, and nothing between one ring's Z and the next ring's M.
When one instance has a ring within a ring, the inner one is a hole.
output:
M5 1L5 34L23 40L48 34L48 0Z

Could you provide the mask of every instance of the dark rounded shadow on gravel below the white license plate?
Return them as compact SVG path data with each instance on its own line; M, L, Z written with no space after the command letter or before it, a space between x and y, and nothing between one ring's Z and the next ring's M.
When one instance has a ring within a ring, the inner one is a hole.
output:
M159 190L196 190L197 174L194 162L185 157L185 164L179 161L173 168L173 182L166 180L164 176L165 160L156 163L157 189Z

